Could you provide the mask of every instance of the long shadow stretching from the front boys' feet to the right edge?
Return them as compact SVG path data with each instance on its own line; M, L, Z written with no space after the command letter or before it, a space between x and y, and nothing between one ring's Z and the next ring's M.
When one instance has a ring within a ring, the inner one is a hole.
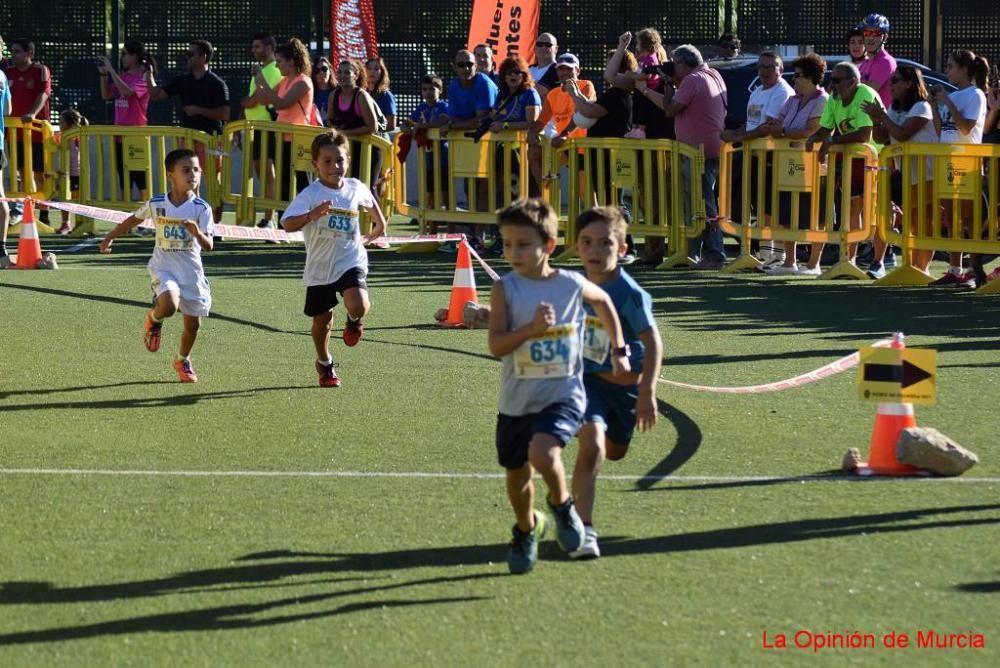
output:
M1000 524L1000 515L963 519L945 519L959 513L984 513L1000 511L1000 504L976 506L947 506L921 508L870 515L847 515L819 519L752 524L748 526L678 533L655 538L601 539L602 556L630 554L660 554L668 552L696 552L720 550L754 545L798 543L807 540L843 538L878 533L902 533L927 529L976 527ZM942 517L937 517L942 516Z

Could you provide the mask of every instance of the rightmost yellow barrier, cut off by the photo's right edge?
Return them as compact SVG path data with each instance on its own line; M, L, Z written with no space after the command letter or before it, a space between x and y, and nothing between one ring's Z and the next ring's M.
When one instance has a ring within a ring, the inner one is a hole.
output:
M896 183L897 209L879 200L883 238L902 248L897 268L879 285L926 285L934 251L1000 255L1000 146L893 144L879 155L880 191ZM1000 294L1000 281L977 292Z

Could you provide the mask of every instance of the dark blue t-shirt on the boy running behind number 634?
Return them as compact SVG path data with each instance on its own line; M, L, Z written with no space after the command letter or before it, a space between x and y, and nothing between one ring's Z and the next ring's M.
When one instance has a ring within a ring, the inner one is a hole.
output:
M656 327L656 320L653 318L653 300L648 292L639 287L635 279L625 273L624 269L618 270L618 278L601 285L600 288L608 293L615 310L618 311L625 343L632 350L628 361L633 371L639 371L642 369L645 357L639 334L650 327ZM583 372L611 371L613 369L610 356L611 338L601 327L590 304L584 304L583 308L587 312L587 326L583 334Z

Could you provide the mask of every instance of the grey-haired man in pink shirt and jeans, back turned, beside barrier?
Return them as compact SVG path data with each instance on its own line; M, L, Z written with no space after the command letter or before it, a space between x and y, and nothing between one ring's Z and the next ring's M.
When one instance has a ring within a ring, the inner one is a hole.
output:
M673 52L674 79L680 81L677 91L666 86L662 106L664 113L674 119L677 141L691 146L702 146L705 151L705 173L702 177L702 196L705 214L714 219L719 214L715 198L715 183L719 177L719 152L722 148L722 130L726 125L726 83L722 76L705 65L701 53L694 46L684 44ZM654 100L654 103L657 102ZM691 165L684 161L684 180L691 182ZM685 189L685 199L690 195ZM686 202L688 211L690 203ZM692 240L692 257L699 257L699 269L720 269L726 261L722 245L722 230L714 220L706 222L701 239Z

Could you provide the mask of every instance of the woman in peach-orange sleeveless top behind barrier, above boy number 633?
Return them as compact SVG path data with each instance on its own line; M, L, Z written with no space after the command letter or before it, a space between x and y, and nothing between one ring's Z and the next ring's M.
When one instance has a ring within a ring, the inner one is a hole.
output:
M276 88L271 88L260 68L257 67L254 76L257 79L257 90L261 97L278 110L278 122L289 125L315 125L313 106L312 63L305 45L293 37L274 51L275 61L282 79ZM281 183L280 199L290 200L291 167L292 167L292 135L282 135L281 169L278 180ZM305 172L295 172L296 190L302 190L309 185Z

